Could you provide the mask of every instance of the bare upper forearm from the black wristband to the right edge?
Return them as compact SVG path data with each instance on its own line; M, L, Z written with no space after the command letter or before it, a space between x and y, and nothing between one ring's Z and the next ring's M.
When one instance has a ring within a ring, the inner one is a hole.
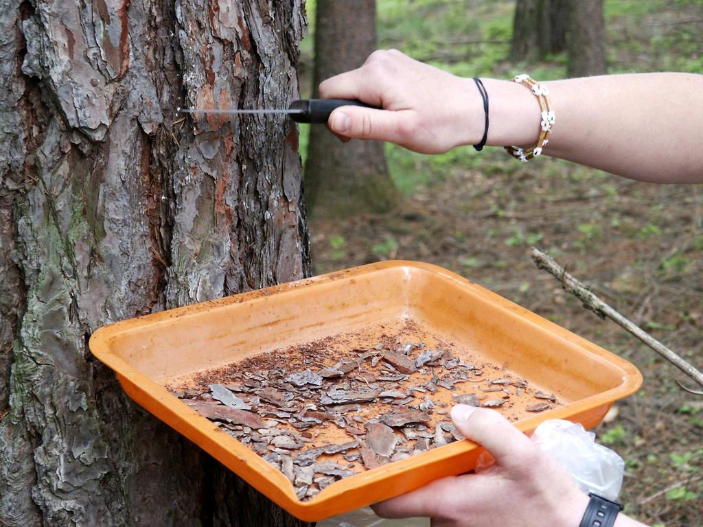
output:
M472 82L467 79L467 90L475 89ZM536 97L513 82L484 84L491 108L488 144L534 145ZM624 74L543 84L557 117L543 155L642 181L703 182L703 75ZM478 103L475 98L474 115L483 111ZM476 142L473 128L467 143Z

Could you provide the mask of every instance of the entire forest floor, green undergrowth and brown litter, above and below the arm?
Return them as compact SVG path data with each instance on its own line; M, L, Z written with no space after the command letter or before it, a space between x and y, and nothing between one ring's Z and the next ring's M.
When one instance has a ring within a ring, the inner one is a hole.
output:
M563 77L562 55L505 61L512 6L378 0L380 47L467 76ZM610 72L703 72L700 0L606 0L605 11ZM529 257L531 246L546 250L703 367L703 186L639 183L561 160L520 164L498 149L430 157L387 145L386 153L403 202L387 214L313 219L315 273L382 259L427 261L630 360L643 387L595 430L626 460L626 512L652 526L703 525L703 397L679 389L675 379L687 381L675 367L586 311Z

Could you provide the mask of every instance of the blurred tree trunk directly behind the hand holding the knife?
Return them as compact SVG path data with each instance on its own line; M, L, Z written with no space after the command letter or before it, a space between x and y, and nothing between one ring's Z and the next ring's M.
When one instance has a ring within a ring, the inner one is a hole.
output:
M315 22L315 96L320 82L363 64L376 46L375 0L318 0ZM341 143L325 126L311 126L305 197L316 217L382 212L393 206L383 143Z

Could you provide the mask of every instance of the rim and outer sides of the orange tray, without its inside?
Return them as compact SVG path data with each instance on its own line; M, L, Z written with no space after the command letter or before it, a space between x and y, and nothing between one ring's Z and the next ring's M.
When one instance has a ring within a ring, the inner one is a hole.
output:
M202 417L198 412L186 405L186 403L183 403L183 401L167 391L165 387L157 384L157 382L150 379L150 377L147 377L125 360L116 356L115 353L111 351L110 346L112 342L120 339L122 335L141 329L146 325L160 326L166 323L172 323L176 318L194 316L212 309L227 308L232 304L257 303L258 300L266 299L272 294L285 294L286 292L292 292L302 287L315 287L316 285L322 285L343 278L352 278L384 271L386 269L404 267L439 274L444 276L444 278L449 278L451 281L456 282L460 287L468 287L472 292L480 297L484 297L487 301L491 301L496 307L507 311L510 315L517 316L524 320L525 323L529 323L529 325L546 330L555 337L568 341L569 344L575 344L589 353L593 353L607 360L608 363L615 365L623 373L621 384L618 386L580 399L574 403L569 403L560 408L548 410L528 417L527 419L521 419L519 422L515 423L515 426L517 429L520 429L520 431L532 431L538 424L547 419L569 419L598 409L599 407L607 406L607 408L609 408L614 401L631 395L631 393L637 391L642 384L642 375L640 372L624 358L603 349L597 344L580 337L578 334L456 273L452 273L451 271L431 263L406 260L369 263L364 266L296 280L295 282L273 285L235 294L230 297L203 301L197 304L122 320L117 323L105 325L93 332L89 340L89 349L91 353L93 353L93 356L115 371L123 389L136 403L146 408L158 419L169 424L169 426L186 436L210 455L213 455L217 460L225 464L226 467L236 471L238 476L252 484L257 490L267 495L271 500L278 503L278 505L288 510L291 514L298 516L304 521L319 521L330 516L330 514L325 512L325 509L329 508L325 507L325 505L328 505L329 502L334 501L349 490L362 488L378 477L385 479L389 476L399 475L408 469L417 469L418 467L434 464L435 462L446 460L456 455L465 455L480 447L476 443L465 440L450 443L449 445L444 445L439 448L433 448L423 454L393 462L377 469L364 471L350 476L347 479L337 481L325 488L325 490L322 490L311 500L301 502L295 495L292 483L288 481L282 472L271 466L271 464L257 455L257 453L254 453L253 450L243 445L243 443L240 443L236 438L229 436L219 429L219 427L210 422L209 419ZM136 393L142 397L136 396ZM223 457L225 459L223 459ZM243 468L245 471L252 471L252 473L242 474L240 471L236 470L236 468L239 467ZM260 476L263 476L263 482ZM337 513L335 512L334 514Z

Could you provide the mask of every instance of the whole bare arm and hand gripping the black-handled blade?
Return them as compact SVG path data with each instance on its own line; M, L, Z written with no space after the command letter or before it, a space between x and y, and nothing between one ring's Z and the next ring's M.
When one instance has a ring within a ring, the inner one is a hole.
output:
M536 144L540 107L522 84L482 79L489 96L488 145ZM703 183L703 75L645 73L544 83L556 122L543 155L642 181ZM357 70L319 86L323 98L358 98L383 110L337 108L342 138L392 141L415 152L479 143L484 105L473 79L399 51L376 51Z

